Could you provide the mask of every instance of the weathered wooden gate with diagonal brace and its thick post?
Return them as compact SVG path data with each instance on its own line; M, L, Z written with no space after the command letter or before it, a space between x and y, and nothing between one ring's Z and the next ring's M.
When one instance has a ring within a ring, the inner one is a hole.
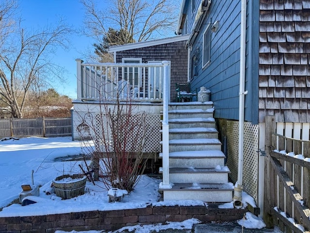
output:
M265 118L263 217L268 227L278 225L283 232L310 233L309 125L305 129L297 125L294 129L291 124L286 129L279 124L276 129L275 117ZM296 139L301 135L308 140Z

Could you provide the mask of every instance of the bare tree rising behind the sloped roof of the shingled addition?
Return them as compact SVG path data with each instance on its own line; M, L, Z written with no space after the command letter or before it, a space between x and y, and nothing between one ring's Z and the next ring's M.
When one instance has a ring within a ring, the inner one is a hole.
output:
M97 41L109 36L109 28L123 30L126 36L120 39L127 44L155 33L166 35L176 27L179 6L174 0L109 0L102 9L95 0L80 1L86 11L84 33Z

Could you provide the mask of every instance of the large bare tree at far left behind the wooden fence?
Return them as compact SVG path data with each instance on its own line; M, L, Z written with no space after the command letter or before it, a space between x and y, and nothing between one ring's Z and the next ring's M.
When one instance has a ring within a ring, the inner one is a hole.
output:
M23 117L27 94L35 80L63 81L63 68L50 61L56 48L66 48L71 29L60 19L38 31L21 27L16 17L16 1L3 0L0 6L0 101L6 103L13 117Z

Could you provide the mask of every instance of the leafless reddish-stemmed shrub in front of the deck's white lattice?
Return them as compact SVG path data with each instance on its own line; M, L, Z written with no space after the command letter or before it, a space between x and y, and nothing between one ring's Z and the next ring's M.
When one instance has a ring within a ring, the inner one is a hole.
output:
M118 93L115 101L101 98L97 110L89 109L84 116L79 116L82 123L77 127L82 144L92 154L105 187L128 192L134 189L143 174L147 162L143 151L154 131L147 114L139 111L129 96L121 98ZM95 146L89 147L86 139L93 141Z

